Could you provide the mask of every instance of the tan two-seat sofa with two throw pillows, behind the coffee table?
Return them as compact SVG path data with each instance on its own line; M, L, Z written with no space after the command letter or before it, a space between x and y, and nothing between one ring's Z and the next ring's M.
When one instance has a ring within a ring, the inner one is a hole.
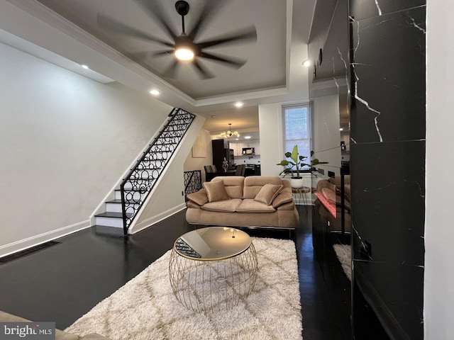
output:
M218 176L187 196L192 225L294 229L299 215L290 182L278 176Z

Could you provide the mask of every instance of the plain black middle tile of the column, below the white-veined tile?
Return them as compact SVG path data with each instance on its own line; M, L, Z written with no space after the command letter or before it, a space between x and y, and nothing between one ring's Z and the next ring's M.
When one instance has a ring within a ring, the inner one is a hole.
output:
M351 145L351 152L353 223L372 259L423 265L426 142ZM355 246L355 259L360 252Z

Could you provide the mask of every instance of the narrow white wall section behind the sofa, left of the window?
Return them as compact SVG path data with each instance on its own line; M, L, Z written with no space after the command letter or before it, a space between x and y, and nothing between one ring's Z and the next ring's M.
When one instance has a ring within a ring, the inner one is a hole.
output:
M276 164L284 159L282 103L259 105L258 119L260 171L262 176L277 176L283 168Z

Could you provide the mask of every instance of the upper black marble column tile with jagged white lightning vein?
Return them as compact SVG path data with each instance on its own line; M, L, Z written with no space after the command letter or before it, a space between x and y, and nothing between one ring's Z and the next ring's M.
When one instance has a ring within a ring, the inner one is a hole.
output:
M419 7L352 23L355 142L425 137L425 18Z

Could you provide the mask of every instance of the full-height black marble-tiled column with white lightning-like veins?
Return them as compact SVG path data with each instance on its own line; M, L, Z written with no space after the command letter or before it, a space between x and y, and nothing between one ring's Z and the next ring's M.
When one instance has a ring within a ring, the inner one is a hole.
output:
M423 339L425 5L350 0L355 339Z

